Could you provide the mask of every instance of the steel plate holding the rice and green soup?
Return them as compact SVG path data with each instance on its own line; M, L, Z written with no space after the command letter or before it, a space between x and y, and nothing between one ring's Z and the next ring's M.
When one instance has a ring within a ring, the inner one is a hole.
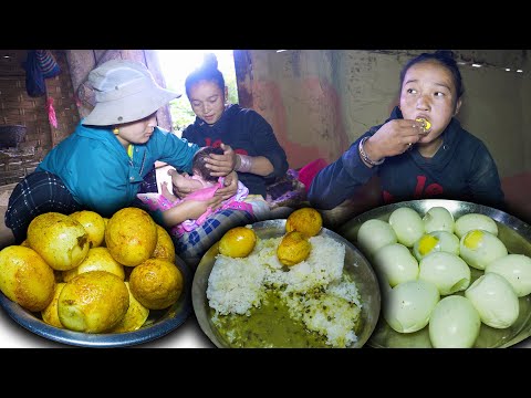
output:
M260 221L252 224L252 229L260 239L279 238L285 233L285 219ZM356 247L340 237L337 233L322 228L320 235L325 235L343 243L345 250L344 270L348 272L356 282L361 301L361 327L356 333L357 342L348 348L362 347L373 333L379 316L381 295L378 280L376 274ZM219 241L215 243L202 256L199 262L194 282L191 285L191 301L199 326L210 341L219 348L230 348L229 342L218 332L210 318L210 307L207 298L208 277L219 253ZM326 261L326 259L323 259Z

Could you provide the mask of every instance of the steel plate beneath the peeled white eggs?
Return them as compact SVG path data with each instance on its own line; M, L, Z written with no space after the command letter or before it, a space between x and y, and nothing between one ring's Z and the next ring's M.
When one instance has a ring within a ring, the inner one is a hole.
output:
M430 208L436 206L446 208L454 216L454 219L458 219L464 214L472 212L489 216L498 224L498 238L506 244L509 253L531 256L531 227L529 224L501 210L458 200L423 199L378 207L352 218L340 228L339 233L353 244L357 244L357 231L367 220L381 219L383 221L388 221L391 213L402 207L412 208L419 214L424 216ZM476 279L482 275L483 272L472 268L470 268L470 270L471 284ZM462 292L459 294L462 294ZM497 329L481 323L481 328L475 347L509 347L531 336L530 295L520 297L519 303L520 315L512 326L504 329ZM367 345L385 348L431 347L427 326L415 333L402 334L391 328L383 316L381 316L375 332L367 342Z

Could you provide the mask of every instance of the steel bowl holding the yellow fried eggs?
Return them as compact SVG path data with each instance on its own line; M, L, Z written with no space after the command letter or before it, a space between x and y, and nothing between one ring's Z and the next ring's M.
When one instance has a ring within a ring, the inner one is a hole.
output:
M18 324L28 331L48 339L81 347L125 347L147 343L165 336L179 327L191 314L191 279L188 265L176 258L176 265L183 273L183 293L179 300L168 308L150 310L144 325L126 333L81 333L51 326L44 323L40 313L24 310L0 292L0 305Z

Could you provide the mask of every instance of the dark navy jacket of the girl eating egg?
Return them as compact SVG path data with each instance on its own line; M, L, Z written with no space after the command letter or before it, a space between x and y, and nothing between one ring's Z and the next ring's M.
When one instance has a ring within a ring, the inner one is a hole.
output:
M386 121L403 118L395 107ZM332 209L371 177L378 175L384 203L438 198L471 201L504 208L503 191L496 163L486 145L465 130L456 118L442 132L442 145L433 158L424 158L415 146L389 157L381 166L367 167L358 154L358 142L376 133L372 127L333 164L323 168L312 181L309 200L320 209Z

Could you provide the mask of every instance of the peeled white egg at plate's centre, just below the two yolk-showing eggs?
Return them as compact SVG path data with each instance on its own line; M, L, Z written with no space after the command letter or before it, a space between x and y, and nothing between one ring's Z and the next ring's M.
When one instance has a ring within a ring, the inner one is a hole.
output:
M418 279L435 284L440 295L448 295L470 285L470 268L457 254L434 252L420 260Z

